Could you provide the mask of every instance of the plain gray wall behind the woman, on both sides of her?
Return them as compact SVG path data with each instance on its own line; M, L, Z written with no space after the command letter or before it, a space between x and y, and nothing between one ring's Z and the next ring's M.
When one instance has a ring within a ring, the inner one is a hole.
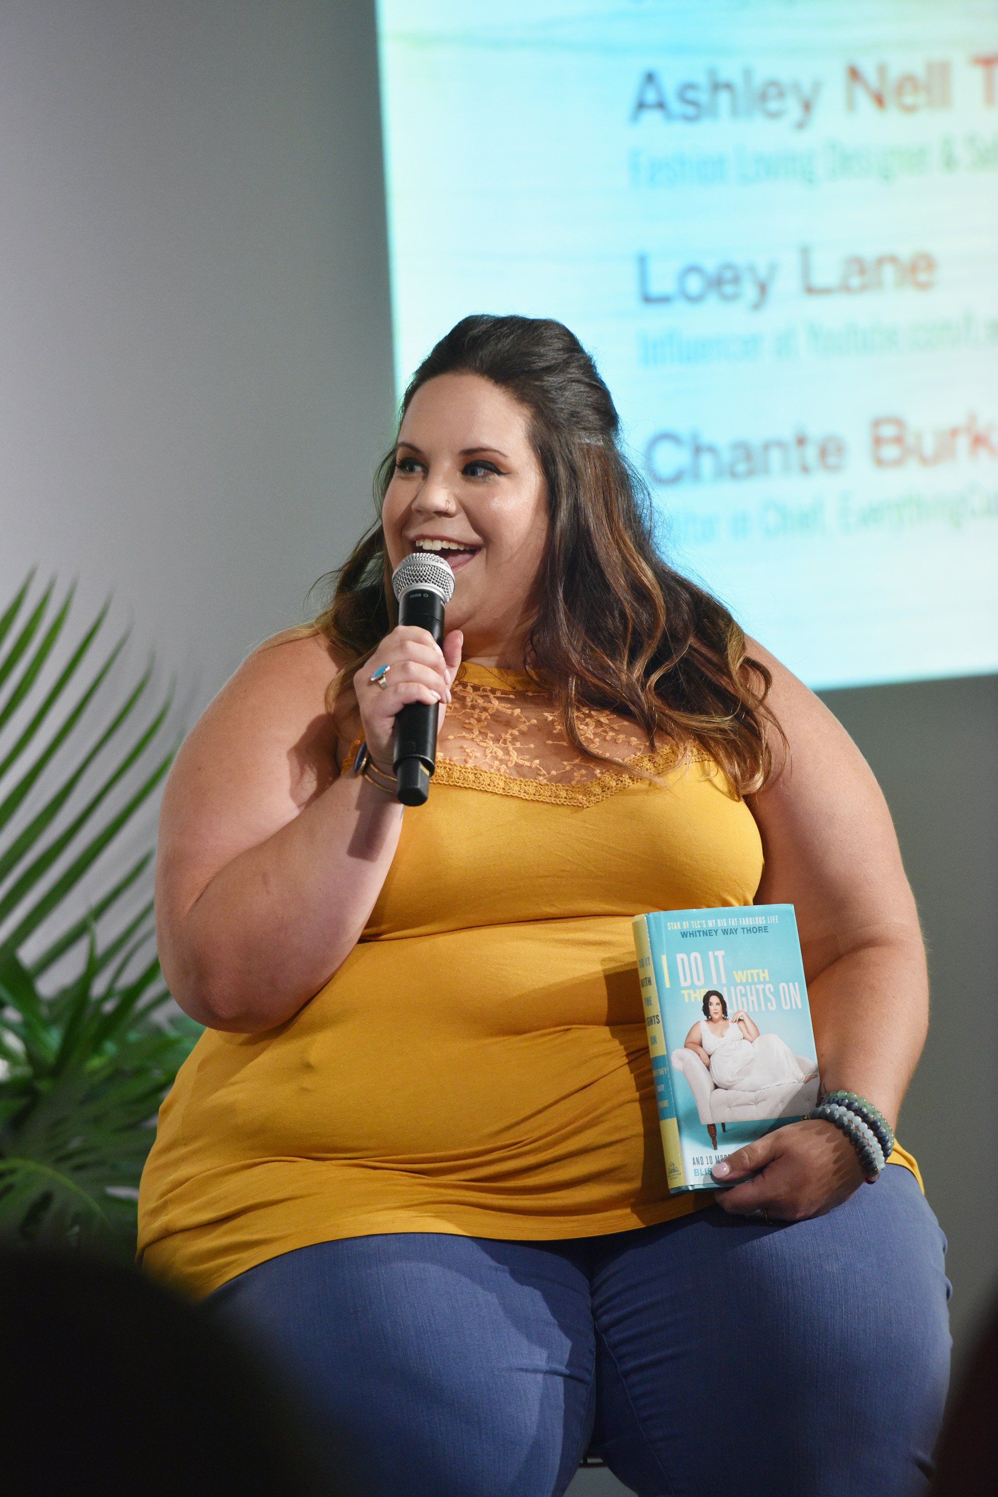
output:
M40 561L87 603L114 588L193 711L370 513L392 407L373 6L7 0L0 192L0 587ZM929 939L902 1138L965 1340L998 1277L998 684L827 701Z

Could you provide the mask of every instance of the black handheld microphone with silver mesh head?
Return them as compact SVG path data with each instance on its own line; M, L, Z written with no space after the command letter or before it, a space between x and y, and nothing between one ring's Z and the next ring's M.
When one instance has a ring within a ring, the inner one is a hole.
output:
M443 644L443 611L453 593L453 572L432 551L413 551L392 572L399 624L425 629ZM425 805L437 768L435 702L410 702L395 719L394 769L402 805Z

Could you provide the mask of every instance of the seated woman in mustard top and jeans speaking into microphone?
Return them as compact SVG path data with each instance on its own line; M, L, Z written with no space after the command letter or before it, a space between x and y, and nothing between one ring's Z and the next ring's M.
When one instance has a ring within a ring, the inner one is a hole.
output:
M630 919L793 901L824 1082L893 1118L911 895L838 723L657 557L616 430L560 323L458 323L328 612L184 744L160 951L208 1033L144 1259L269 1340L371 1497L549 1497L590 1446L643 1497L908 1494L947 1346L913 1162L868 1189L805 1121L732 1156L718 1207L672 1198ZM453 567L443 648L395 626L420 548ZM407 702L441 729L402 816ZM705 1386L738 1394L709 1440Z

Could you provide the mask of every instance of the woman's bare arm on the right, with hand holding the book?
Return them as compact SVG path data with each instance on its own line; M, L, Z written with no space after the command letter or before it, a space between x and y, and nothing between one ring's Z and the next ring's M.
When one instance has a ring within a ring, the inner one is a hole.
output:
M865 759L827 708L759 645L769 704L789 740L783 769L751 801L766 867L756 901L795 906L821 1082L868 1097L893 1123L928 1027L928 978L914 898L890 813ZM760 1174L721 1198L795 1220L862 1183L827 1123L800 1123L739 1150L715 1175Z

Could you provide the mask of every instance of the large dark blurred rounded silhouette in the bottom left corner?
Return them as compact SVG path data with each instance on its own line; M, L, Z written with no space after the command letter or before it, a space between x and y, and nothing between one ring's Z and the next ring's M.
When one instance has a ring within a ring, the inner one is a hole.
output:
M0 1253L3 1497L347 1497L272 1373L112 1263Z

